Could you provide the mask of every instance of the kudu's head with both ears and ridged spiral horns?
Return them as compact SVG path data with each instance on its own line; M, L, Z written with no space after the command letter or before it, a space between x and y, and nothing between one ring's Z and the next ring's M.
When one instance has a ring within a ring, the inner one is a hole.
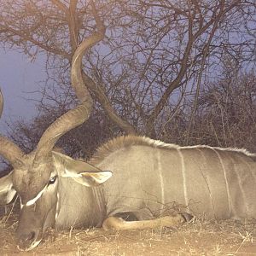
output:
M80 104L64 113L44 131L37 148L30 154L24 154L15 143L0 136L0 154L14 168L9 175L0 179L0 204L8 204L16 194L20 196L20 218L16 236L22 250L36 247L43 238L44 230L55 226L60 207L60 178L73 178L77 183L94 186L111 177L111 172L102 172L84 161L73 160L53 150L62 135L83 124L90 116L93 102L82 79L82 57L86 49L102 40L104 32L105 28L102 26L102 29L93 33L76 49L71 82ZM0 93L0 113L2 109L3 96Z

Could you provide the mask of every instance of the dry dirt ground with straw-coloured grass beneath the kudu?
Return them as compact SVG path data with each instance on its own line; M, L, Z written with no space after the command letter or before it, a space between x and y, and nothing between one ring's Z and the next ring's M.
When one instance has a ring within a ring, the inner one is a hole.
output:
M49 230L31 252L15 246L17 216L0 219L0 255L256 255L256 221L194 220L177 229Z

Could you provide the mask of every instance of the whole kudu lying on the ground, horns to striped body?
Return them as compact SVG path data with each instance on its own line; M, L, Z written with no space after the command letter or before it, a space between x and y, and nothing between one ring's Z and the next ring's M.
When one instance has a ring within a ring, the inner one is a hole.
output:
M104 144L88 163L54 151L57 140L90 115L81 62L103 35L102 26L73 55L71 80L81 103L44 131L32 153L0 137L0 154L14 167L0 179L0 203L20 197L20 249L36 247L48 227L172 227L202 214L256 218L256 154L244 149L179 147L128 136ZM174 211L174 205L184 206L183 212Z

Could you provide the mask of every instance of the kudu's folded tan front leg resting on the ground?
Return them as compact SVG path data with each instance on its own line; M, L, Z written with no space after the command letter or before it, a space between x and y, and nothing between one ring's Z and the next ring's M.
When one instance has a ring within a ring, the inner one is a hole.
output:
M150 220L125 221L123 218L109 217L102 224L104 230L139 230L157 227L177 227L186 222L186 218L181 214L176 216L165 216Z

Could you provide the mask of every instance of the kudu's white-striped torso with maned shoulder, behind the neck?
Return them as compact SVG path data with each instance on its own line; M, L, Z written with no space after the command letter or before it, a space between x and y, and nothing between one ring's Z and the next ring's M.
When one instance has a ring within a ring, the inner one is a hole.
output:
M244 149L119 137L99 148L90 163L113 172L102 184L108 215L155 218L176 202L206 218L256 218L254 159Z

